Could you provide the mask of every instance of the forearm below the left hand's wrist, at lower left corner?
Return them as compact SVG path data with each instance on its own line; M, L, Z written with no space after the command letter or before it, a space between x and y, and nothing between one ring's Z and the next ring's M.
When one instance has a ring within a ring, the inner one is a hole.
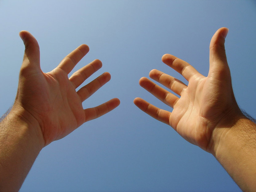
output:
M0 191L18 191L43 145L21 117L10 113L0 123Z

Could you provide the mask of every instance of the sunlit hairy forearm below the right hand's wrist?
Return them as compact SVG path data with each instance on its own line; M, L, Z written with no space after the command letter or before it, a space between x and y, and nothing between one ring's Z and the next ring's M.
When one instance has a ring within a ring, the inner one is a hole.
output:
M240 118L231 128L216 130L213 137L218 143L213 155L219 163L243 191L256 191L256 124Z

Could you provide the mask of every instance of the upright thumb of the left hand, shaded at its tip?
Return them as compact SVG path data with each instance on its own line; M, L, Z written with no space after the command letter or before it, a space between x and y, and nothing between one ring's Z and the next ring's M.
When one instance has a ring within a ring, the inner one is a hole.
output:
M21 31L19 35L25 45L22 67L40 69L40 50L37 40L28 31Z

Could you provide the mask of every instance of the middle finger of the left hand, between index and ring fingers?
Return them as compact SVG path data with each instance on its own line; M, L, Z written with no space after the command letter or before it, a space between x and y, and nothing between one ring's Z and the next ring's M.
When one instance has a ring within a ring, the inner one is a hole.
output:
M78 71L74 72L69 80L74 84L74 87L79 87L89 76L102 67L100 60L95 59L93 62L85 65Z

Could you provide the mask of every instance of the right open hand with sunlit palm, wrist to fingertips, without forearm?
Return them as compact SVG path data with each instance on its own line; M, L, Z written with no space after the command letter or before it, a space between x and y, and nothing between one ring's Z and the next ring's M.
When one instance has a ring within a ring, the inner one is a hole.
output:
M210 43L210 70L207 77L187 62L165 54L162 61L182 74L188 85L163 72L153 69L149 76L180 97L161 88L146 77L140 86L173 108L168 112L136 98L134 103L155 119L173 127L184 139L214 153L213 132L221 127L231 127L242 116L234 98L230 70L224 48L228 29L219 29ZM225 126L224 126L225 125Z

